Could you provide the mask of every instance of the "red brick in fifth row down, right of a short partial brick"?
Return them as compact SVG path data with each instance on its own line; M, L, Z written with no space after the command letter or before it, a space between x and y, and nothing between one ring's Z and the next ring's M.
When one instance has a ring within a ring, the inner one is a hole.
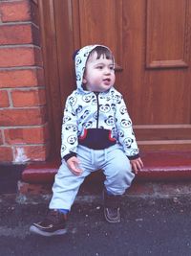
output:
M13 106L37 106L46 104L45 89L13 90L11 92Z

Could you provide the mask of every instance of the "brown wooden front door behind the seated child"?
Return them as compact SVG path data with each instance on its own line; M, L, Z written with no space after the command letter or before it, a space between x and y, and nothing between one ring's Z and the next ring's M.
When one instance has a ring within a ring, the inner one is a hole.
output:
M116 56L116 88L127 103L139 148L191 150L191 0L39 3L41 17L47 15L41 24L50 27L43 29L43 45L55 148L60 145L62 106L74 89L72 53L100 43Z

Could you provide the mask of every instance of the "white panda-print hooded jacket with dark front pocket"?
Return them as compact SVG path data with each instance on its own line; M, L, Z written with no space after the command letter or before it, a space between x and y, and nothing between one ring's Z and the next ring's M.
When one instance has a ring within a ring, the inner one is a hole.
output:
M85 46L75 54L77 88L64 109L61 157L67 161L76 155L78 145L103 150L118 143L129 159L136 159L138 145L122 95L114 87L104 92L83 88L86 61L96 46L100 45Z

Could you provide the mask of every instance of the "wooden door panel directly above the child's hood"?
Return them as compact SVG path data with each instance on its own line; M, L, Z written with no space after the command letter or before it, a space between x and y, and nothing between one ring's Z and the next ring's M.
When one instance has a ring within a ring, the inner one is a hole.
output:
M80 0L78 7L80 45L87 43L109 45L119 62L121 55L118 50L121 49L122 38L121 30L118 28L121 28L122 22L122 1Z

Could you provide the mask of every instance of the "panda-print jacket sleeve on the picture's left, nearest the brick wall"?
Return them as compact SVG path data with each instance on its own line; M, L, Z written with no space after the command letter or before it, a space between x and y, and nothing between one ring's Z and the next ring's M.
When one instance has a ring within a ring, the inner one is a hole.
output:
M64 109L61 130L61 158L66 161L76 155L77 142L77 118L74 106L68 97Z

